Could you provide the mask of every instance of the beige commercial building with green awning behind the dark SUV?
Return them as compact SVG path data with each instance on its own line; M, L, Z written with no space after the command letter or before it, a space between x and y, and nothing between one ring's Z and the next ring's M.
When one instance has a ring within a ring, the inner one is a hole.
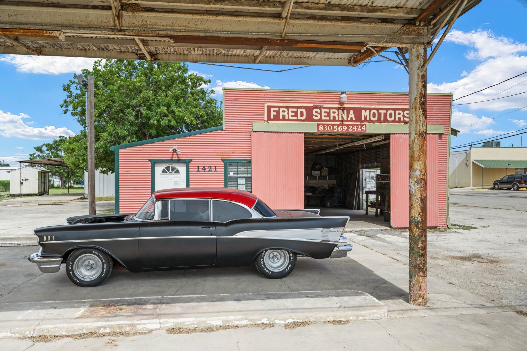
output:
M527 147L472 146L452 151L449 160L450 187L492 186L508 174L527 174Z

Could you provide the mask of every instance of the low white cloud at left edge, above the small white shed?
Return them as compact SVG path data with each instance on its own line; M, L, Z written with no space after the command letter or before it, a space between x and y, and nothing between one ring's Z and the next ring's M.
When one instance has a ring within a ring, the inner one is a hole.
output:
M17 137L22 139L53 139L60 135L73 136L75 133L66 127L31 127L28 124L34 121L24 122L24 118L31 118L30 116L20 113L14 115L9 112L0 110L0 135L5 137Z

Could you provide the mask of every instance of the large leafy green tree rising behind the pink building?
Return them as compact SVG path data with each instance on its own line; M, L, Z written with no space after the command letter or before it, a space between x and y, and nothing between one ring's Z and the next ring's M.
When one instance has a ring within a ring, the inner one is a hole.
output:
M187 64L98 60L82 74L94 77L95 168L102 173L114 172L112 145L221 125L221 106L207 88L210 80L189 74ZM76 79L63 90L63 112L83 126L67 139L64 152L70 165L85 169L85 91Z

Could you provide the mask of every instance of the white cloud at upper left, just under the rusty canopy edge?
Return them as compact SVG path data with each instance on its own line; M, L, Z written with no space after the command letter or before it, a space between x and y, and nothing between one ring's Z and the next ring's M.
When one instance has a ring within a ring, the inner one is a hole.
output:
M96 58L59 57L33 55L2 55L0 62L7 62L22 73L62 74L80 73L83 68L92 68Z

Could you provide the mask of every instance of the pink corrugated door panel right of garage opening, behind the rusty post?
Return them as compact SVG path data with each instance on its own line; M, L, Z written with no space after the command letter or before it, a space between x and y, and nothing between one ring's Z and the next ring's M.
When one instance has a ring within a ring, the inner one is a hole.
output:
M392 227L405 228L408 226L408 134L391 135L390 157L390 208ZM446 226L446 210L444 225L441 225L439 212L442 205L446 208L446 201L440 200L438 187L438 135L426 136L426 225L428 227ZM446 195L445 195L446 197Z

